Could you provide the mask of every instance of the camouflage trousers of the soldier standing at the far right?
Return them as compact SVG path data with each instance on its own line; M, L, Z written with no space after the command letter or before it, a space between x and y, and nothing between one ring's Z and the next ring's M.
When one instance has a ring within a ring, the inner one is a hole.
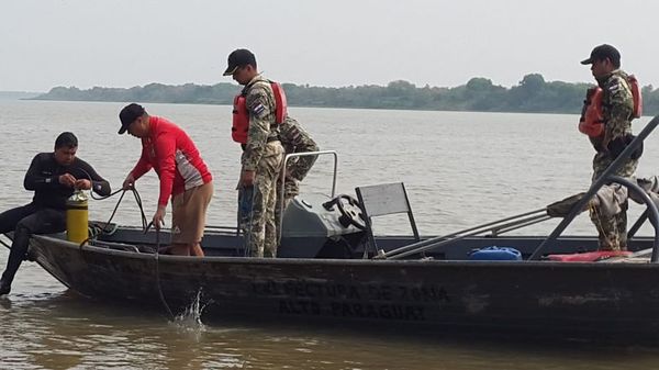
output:
M613 162L605 153L597 153L593 158L593 178L595 181L606 168ZM619 177L630 177L638 166L637 159L628 159L615 172ZM626 250L627 249L627 202L622 204L622 211L615 215L603 214L600 206L590 209L590 218L597 228L600 238L600 250Z

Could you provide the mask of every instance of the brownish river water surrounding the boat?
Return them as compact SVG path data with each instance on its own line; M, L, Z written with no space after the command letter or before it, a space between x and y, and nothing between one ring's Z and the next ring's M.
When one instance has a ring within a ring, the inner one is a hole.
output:
M3 173L0 209L26 203L22 187L32 157L51 152L63 131L76 133L78 156L113 188L137 160L139 142L119 136L122 103L0 101ZM235 225L239 147L231 141L231 108L146 104L186 128L210 166L215 194L210 225ZM576 115L415 112L291 108L322 149L338 152L338 192L404 181L420 232L444 234L544 208L588 189L593 150ZM639 132L649 117L634 123ZM646 144L638 176L656 175L659 135ZM332 160L321 157L303 193L331 191ZM137 182L147 217L157 178ZM116 199L92 201L90 217L107 220ZM641 212L632 205L630 220ZM410 233L405 217L376 220L379 234ZM131 199L114 218L139 224ZM517 231L549 233L556 222ZM649 234L644 228L641 234ZM592 234L581 215L566 234ZM0 249L4 267L8 250ZM158 312L109 306L66 290L25 262L12 293L0 299L0 369L654 369L659 349L590 343L515 340L373 333L309 323L202 323L190 314L168 321Z

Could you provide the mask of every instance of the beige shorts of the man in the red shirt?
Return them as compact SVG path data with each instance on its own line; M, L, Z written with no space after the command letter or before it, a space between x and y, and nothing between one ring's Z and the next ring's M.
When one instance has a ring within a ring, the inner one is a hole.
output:
M171 244L201 242L211 198L213 183L209 182L171 199Z

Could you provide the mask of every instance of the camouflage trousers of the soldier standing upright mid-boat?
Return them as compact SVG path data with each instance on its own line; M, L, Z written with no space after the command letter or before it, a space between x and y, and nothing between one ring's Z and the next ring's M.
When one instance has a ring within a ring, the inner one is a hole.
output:
M258 162L254 184L238 190L238 217L245 247L252 257L277 257L275 205L282 161L281 144L268 143Z

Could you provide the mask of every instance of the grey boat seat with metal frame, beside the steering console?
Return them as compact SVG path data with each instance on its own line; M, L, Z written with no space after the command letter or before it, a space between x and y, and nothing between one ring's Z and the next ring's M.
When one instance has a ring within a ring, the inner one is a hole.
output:
M416 228L416 222L412 214L412 206L410 205L410 199L405 191L405 184L402 182L381 183L376 186L357 187L355 188L357 199L359 200L359 206L364 215L364 223L366 226L366 235L368 237L368 245L364 250L364 257L368 257L369 248L376 254L380 251L376 244L376 238L372 231L372 217L384 216L396 213L406 213L410 218L410 225L412 233L414 234L414 240L420 242L418 231Z

